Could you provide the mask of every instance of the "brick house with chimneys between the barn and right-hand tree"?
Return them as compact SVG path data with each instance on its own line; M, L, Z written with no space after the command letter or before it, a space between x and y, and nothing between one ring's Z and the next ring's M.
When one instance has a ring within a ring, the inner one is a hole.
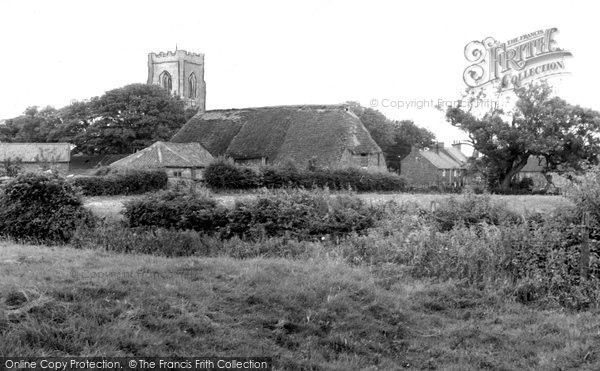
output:
M437 143L430 149L414 148L401 161L400 174L416 187L461 187L465 184L467 156L458 145Z

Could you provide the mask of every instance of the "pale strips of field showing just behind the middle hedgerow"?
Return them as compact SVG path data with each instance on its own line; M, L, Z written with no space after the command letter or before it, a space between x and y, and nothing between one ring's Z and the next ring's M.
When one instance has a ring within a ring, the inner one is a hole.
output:
M381 204L389 201L415 202L422 207L429 208L431 201L440 201L452 195L445 194L411 194L411 193L359 193L359 197L372 204ZM133 198L140 196L96 196L86 197L85 206L100 217L108 219L121 219L123 204ZM216 194L215 198L227 207L233 206L235 200L254 197L251 193L240 194ZM549 212L563 205L569 205L570 201L561 196L503 196L493 195L494 200L506 202L507 206L518 213Z

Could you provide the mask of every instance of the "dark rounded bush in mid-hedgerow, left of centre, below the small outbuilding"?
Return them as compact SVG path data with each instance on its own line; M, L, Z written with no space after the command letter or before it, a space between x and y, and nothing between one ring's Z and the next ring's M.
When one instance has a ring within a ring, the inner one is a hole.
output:
M226 210L209 195L179 189L161 191L125 204L130 227L213 232L226 223Z

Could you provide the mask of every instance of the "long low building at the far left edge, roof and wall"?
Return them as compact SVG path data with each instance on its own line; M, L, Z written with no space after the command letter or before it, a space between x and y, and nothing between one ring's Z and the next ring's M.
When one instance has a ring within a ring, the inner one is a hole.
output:
M66 175L72 147L70 143L0 143L0 161L20 162L23 172L53 169Z

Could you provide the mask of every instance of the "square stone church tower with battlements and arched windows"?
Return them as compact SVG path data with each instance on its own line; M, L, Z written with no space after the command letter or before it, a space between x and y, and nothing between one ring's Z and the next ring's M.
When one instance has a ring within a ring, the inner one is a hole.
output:
M204 54L185 50L148 54L148 84L162 86L199 112L206 110Z

